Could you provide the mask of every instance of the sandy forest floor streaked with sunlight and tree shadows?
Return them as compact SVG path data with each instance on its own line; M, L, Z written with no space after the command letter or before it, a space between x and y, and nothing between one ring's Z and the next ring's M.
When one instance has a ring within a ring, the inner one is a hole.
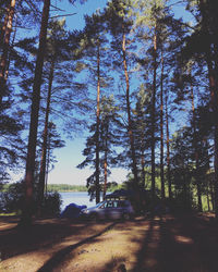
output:
M0 218L0 271L218 271L211 214L138 217L125 222Z

